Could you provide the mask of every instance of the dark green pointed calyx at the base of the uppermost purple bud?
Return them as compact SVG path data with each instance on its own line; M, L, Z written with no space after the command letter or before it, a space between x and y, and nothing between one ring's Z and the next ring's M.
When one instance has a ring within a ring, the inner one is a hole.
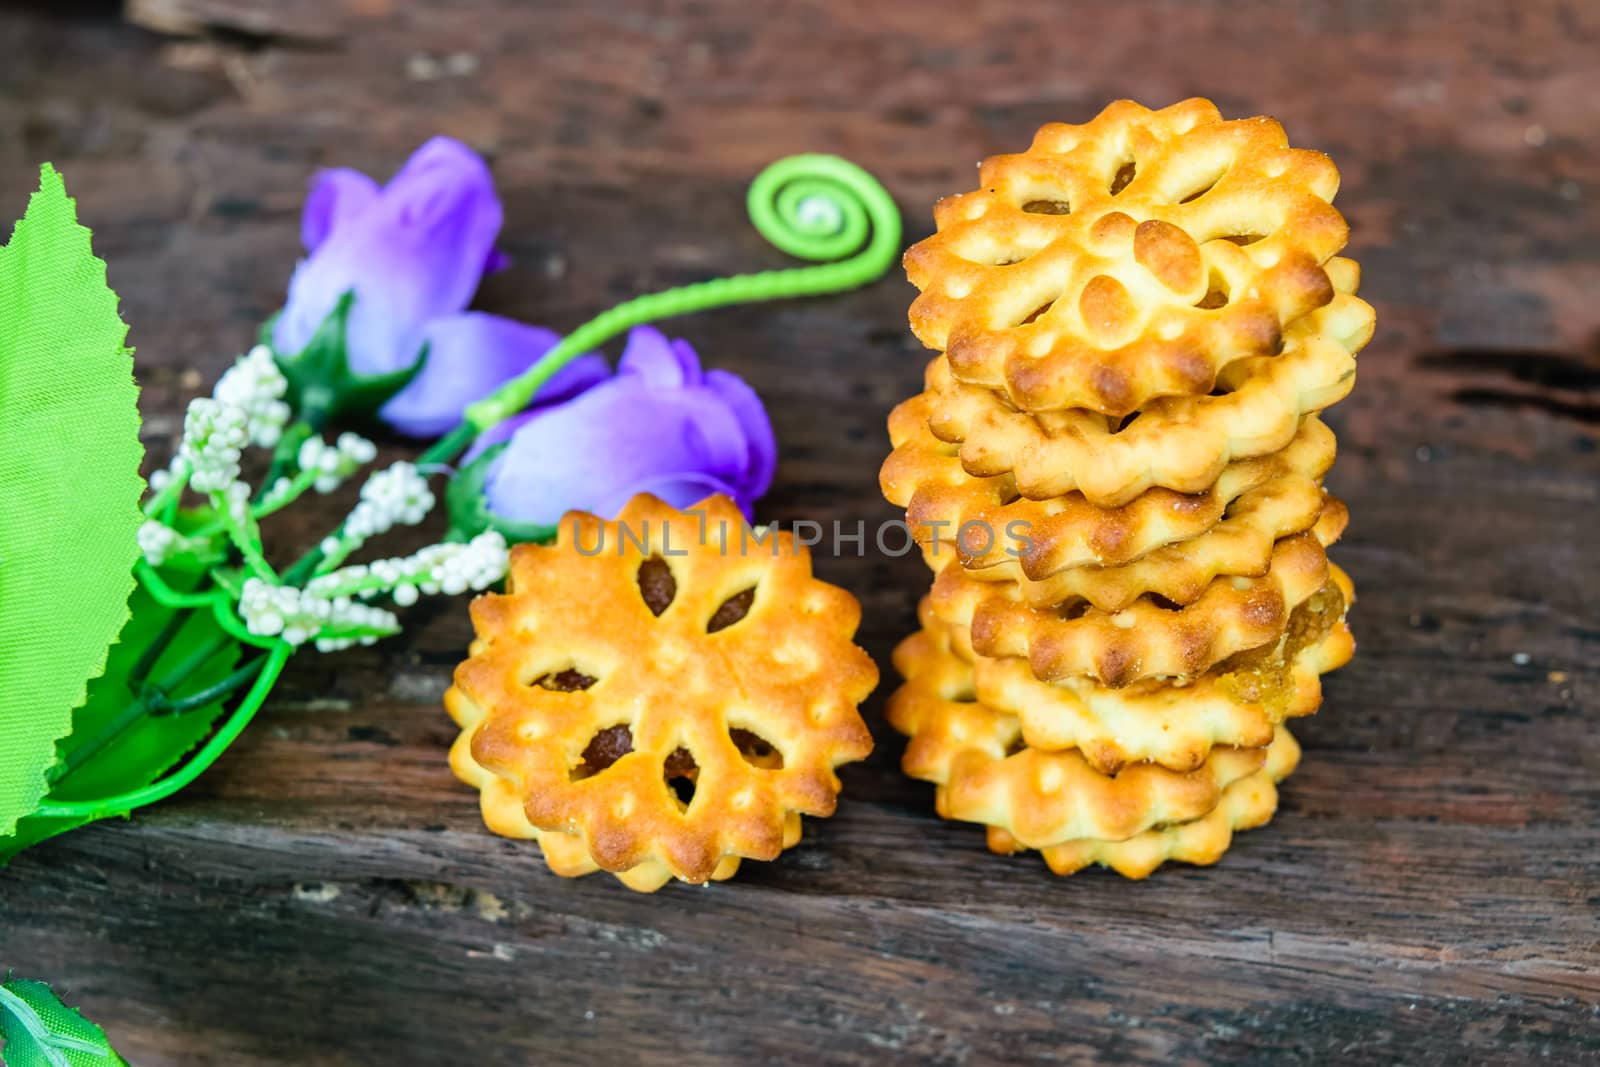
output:
M272 355L290 382L288 402L314 430L334 419L370 421L390 397L411 384L427 362L427 346L416 362L403 371L390 374L355 374L346 346L346 330L350 309L355 306L355 290L347 290L333 306L317 333L299 352L290 355L272 347L272 326L277 315L261 328L261 342L272 347Z

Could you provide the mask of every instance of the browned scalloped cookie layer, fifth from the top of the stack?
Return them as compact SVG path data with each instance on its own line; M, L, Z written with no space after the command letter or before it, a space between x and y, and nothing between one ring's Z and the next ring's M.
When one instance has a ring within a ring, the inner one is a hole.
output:
M1035 608L1014 582L981 582L958 563L934 579L931 603L957 648L1022 656L1042 681L1085 677L1109 686L1141 678L1184 680L1229 656L1278 640L1290 613L1328 581L1328 557L1312 533L1278 541L1267 573L1221 576L1189 605L1144 595L1122 611L1077 601Z

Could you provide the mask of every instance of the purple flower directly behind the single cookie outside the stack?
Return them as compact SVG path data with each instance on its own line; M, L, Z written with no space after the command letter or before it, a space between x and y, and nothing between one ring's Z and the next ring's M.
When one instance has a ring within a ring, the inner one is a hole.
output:
M483 434L464 462L509 442L483 482L499 518L552 526L571 509L614 518L635 493L675 507L723 493L746 517L766 493L778 443L760 397L701 371L686 341L635 328L616 378Z

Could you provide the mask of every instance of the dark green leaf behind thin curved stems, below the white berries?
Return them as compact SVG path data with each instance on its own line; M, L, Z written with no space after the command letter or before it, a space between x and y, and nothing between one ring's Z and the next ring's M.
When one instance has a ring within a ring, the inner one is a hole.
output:
M131 614L120 640L110 649L106 673L90 683L88 701L72 717L72 734L59 745L61 763L56 769L66 766L72 769L50 790L51 800L93 800L149 785L211 733L213 723L227 705L227 701L214 701L181 713L139 715L133 725L117 733L114 741L90 750L93 739L110 731L118 717L126 715L138 701L141 686L133 685L130 675L144 649L166 630L174 616L171 608L155 603L144 589L134 590L128 606ZM238 641L227 637L210 611L186 614L182 629L150 667L149 680L160 681L206 648L214 646L216 651L192 677L168 693L173 699L182 699L226 678L237 665L242 651ZM0 838L0 864L45 838L85 822L88 819L27 816L18 822L10 838Z

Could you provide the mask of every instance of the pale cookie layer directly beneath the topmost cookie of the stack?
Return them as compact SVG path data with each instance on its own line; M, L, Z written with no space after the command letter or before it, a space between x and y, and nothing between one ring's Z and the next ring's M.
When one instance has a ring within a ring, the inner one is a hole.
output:
M1350 392L1373 309L1355 296L1354 261L1336 258L1326 269L1334 299L1285 330L1280 355L1229 365L1211 395L1152 400L1131 419L1083 410L1027 414L958 382L939 357L928 368L928 429L960 445L970 474L1010 474L1032 499L1078 491L1099 507L1120 507L1150 486L1203 493L1227 464L1285 448L1304 416Z

